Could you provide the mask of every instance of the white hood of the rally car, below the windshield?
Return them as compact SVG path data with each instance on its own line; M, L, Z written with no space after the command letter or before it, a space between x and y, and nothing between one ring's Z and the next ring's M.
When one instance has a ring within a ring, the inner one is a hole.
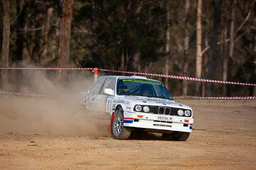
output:
M141 105L150 105L150 106L163 106L163 107L172 107L172 108L184 108L192 110L189 106L185 104L176 103L168 99L159 99L156 97L143 97L143 96L124 96L118 97L120 100L123 100L125 104L134 106L135 104Z

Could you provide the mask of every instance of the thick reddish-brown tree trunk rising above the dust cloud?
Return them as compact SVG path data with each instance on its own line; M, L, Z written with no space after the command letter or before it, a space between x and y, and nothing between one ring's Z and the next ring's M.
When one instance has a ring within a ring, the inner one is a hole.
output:
M59 36L58 67L67 67L70 60L70 32L74 0L63 1ZM67 81L67 71L60 70L60 81Z

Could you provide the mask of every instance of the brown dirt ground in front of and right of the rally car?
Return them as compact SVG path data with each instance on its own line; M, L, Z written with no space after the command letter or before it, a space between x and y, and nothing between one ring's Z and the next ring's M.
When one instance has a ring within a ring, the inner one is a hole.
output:
M177 102L194 110L186 142L1 132L0 169L256 169L256 101Z

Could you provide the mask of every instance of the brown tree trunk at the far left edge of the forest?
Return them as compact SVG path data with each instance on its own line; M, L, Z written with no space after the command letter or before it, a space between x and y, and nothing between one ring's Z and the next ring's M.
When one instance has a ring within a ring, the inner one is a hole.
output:
M10 1L3 0L3 42L2 42L2 67L9 67L9 43L10 43ZM1 70L1 87L3 90L8 86L10 77L8 70Z

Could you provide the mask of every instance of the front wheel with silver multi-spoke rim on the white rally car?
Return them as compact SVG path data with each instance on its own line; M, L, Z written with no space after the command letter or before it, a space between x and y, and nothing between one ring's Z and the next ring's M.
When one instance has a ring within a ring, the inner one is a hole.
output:
M130 135L131 129L124 127L124 115L118 111L113 119L112 136L115 139L128 139Z

